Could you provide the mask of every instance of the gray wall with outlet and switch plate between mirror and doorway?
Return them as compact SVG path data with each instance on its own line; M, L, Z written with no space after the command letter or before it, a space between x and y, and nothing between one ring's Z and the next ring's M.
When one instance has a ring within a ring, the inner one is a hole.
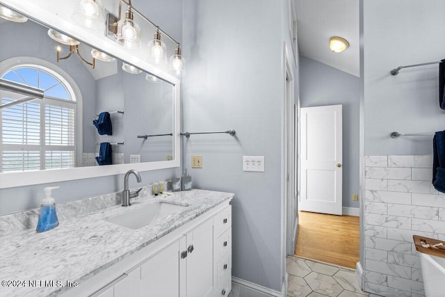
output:
M197 188L235 193L236 278L281 291L282 5L287 1L184 1L185 131L235 129L184 141L184 167ZM191 169L191 155L203 168ZM265 172L243 172L243 156L264 156Z

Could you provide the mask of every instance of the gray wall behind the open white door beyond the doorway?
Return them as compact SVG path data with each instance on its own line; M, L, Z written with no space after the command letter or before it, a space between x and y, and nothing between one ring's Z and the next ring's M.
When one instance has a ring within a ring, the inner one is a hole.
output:
M359 207L360 79L300 56L301 107L343 105L343 207Z

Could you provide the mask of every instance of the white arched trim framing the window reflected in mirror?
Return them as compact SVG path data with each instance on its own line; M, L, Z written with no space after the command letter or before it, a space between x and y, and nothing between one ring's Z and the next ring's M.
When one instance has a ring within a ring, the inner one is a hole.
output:
M28 57L28 56L18 56L14 58L8 58L4 61L0 62L0 77L3 77L6 72L9 72L15 67L38 67L42 70L48 72L49 74L56 77L56 79L60 80L63 83L63 86L67 88L68 93L74 94L73 101L76 102L76 145L74 147L75 151L75 166L80 166L82 163L82 153L83 153L83 99L82 99L82 93L77 86L76 81L72 79L70 74L67 74L65 70L62 68L54 65L53 63L50 63L48 61L42 60L40 58L34 58L34 57ZM51 98L51 97L48 97ZM49 99L44 99L45 104L46 102L49 102ZM68 102L65 103L66 100L57 99L61 105L67 105ZM65 103L65 104L64 104ZM42 106L44 106L42 105ZM44 146L44 143L42 144ZM54 146L54 149L57 150L58 148L61 148L64 146ZM1 162L1 160L0 160Z

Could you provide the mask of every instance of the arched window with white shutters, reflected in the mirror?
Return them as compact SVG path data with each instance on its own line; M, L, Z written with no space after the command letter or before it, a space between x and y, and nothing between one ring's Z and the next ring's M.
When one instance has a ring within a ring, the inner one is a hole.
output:
M75 167L81 95L74 80L56 65L28 57L1 62L0 77L44 90L41 100L1 109L0 171ZM17 99L11 97L1 93L1 104Z

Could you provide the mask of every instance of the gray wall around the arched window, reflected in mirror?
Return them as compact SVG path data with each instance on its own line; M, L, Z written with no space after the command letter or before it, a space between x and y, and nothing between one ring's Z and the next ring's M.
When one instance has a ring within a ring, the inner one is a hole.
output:
M82 93L83 103L83 151L94 152L94 131L90 129L91 120L95 117L95 80L79 58L72 57L57 63L57 42L49 38L48 29L34 22L15 23L5 22L0 24L2 42L0 61L16 56L29 56L48 61L65 70L76 81ZM17 38L20 36L20 38ZM69 47L63 46L63 55Z

